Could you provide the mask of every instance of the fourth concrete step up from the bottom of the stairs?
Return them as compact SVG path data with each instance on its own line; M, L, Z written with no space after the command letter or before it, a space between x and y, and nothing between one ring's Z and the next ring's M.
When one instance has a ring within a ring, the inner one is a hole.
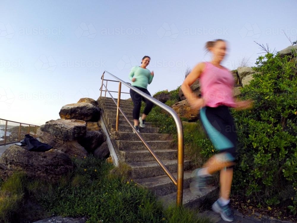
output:
M177 150L154 150L156 155L161 160L170 160L177 158ZM119 151L123 160L125 162L145 162L145 161L154 161L154 157L151 155L149 150L126 150Z

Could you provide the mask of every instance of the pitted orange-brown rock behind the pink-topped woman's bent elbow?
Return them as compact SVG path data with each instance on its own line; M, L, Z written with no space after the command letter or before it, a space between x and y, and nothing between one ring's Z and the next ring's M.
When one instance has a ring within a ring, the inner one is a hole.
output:
M188 120L198 120L199 110L192 109L187 99L175 103L172 106L172 109L179 115L179 117Z

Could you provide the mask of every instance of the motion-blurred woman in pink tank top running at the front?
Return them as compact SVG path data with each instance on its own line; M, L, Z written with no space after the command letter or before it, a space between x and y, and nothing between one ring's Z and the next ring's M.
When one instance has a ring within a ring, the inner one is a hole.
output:
M220 198L212 205L223 220L232 222L230 190L233 166L236 163L236 130L229 108L247 109L251 101L236 102L233 98L234 78L230 71L221 65L226 55L224 40L209 41L206 49L212 53L211 62L196 65L184 80L181 89L194 109L200 109L200 121L209 139L219 153L212 156L202 168L192 173L190 189L193 193L207 190L207 180L214 172L220 171ZM191 90L191 85L199 79L201 98ZM231 131L230 131L231 130Z

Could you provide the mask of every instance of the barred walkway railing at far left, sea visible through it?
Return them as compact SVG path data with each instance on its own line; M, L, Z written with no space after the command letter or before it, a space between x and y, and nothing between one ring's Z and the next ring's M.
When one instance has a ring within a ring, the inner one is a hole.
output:
M26 134L36 137L38 125L0 119L0 146L20 142Z

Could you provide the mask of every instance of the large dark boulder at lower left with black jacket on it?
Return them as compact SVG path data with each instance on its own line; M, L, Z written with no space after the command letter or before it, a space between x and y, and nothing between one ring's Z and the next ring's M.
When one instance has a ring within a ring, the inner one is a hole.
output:
M31 152L13 145L0 157L0 177L6 180L14 172L23 171L31 179L49 180L52 183L74 168L69 156L60 150Z

